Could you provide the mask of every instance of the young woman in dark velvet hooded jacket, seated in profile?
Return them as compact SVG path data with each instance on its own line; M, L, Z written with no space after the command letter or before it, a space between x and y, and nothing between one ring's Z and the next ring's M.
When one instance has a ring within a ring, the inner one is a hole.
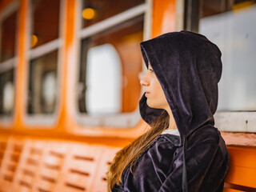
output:
M109 191L222 191L229 154L214 127L221 52L201 34L162 34L140 44L148 68L140 113L151 129L122 149Z

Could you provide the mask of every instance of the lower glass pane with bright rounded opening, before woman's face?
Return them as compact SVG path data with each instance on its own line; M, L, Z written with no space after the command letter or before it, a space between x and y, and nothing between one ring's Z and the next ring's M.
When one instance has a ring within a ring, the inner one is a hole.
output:
M136 109L141 90L142 33L143 15L82 40L81 112L117 114Z

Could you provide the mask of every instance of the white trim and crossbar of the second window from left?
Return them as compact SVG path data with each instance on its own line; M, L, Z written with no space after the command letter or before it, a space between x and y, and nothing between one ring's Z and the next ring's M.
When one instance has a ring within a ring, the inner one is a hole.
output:
M63 29L63 26L64 24L62 23L62 21L64 20L65 18L65 15L63 14L64 13L64 9L66 9L66 0L62 1L60 0L60 11L59 11L59 38L57 39L54 39L50 42L47 42L45 44L43 44L42 46L38 46L34 49L30 49L30 30L31 30L31 18L30 15L31 15L31 1L29 1L29 3L27 4L28 5L28 11L27 11L27 15L26 15L26 18L28 18L28 25L27 25L27 29L26 31L28 32L27 33L27 47L26 47L26 50L27 50L27 74L30 74L30 61L34 58L38 58L44 54L49 54L51 52L53 52L54 50L57 50L58 51L58 63L57 63L57 87L58 87L58 90L57 90L57 96L56 96L56 106L55 106L55 110L54 110L54 113L53 114L28 114L27 113L27 94L25 94L25 106L24 106L24 110L26 111L25 113L25 122L26 124L28 125L32 125L31 127L30 126L27 126L28 128L31 128L31 129L34 129L33 126L44 126L44 128L52 128L52 126L54 126L55 123L57 123L58 121L58 116L60 114L60 105L59 105L59 95L60 95L60 92L61 92L61 89L59 88L60 87L60 79L61 79L61 67L62 67L62 54L63 54L63 49L62 49L62 45L63 45L63 42L62 42L62 38L65 34L65 31ZM27 82L26 82L26 90L28 90L28 84L30 79L27 78Z

